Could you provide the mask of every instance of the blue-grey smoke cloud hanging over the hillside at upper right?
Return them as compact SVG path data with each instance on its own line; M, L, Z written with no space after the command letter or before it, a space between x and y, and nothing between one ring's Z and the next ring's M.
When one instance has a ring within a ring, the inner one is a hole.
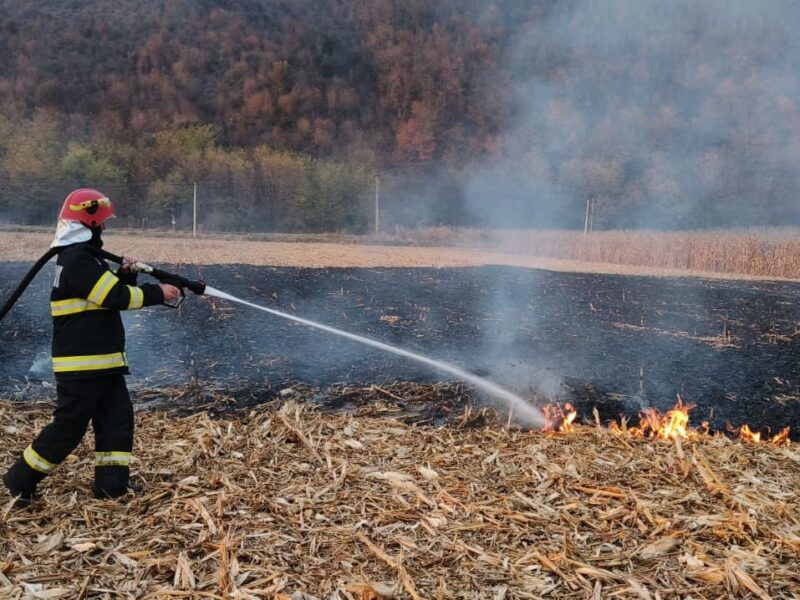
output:
M464 174L483 226L800 223L800 5L568 3L512 44L503 147Z

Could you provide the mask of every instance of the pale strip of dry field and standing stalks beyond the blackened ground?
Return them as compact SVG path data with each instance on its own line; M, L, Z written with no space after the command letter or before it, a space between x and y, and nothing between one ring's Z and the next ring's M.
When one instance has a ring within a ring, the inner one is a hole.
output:
M433 237L431 237L433 236ZM272 238L270 238L272 239ZM393 236L304 241L109 232L107 248L171 264L246 263L277 267L467 267L509 265L553 271L735 279L800 280L800 231L752 233L599 232L433 228ZM0 231L0 261L33 261L45 232ZM392 245L401 244L401 245ZM416 244L416 245L414 245ZM438 244L438 245L431 245Z

